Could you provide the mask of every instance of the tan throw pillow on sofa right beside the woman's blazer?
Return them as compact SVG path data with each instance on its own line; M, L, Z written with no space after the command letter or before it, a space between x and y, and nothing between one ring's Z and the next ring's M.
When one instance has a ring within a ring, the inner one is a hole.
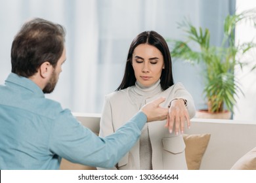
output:
M200 169L203 154L205 153L210 137L210 134L183 134L186 144L186 163L189 170Z

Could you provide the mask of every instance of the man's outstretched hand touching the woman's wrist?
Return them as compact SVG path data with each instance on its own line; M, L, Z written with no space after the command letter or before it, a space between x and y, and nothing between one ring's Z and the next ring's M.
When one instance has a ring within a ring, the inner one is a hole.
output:
M165 101L165 98L160 97L141 108L142 112L146 114L148 119L147 122L160 121L167 118L168 108L162 108L159 106L163 101Z

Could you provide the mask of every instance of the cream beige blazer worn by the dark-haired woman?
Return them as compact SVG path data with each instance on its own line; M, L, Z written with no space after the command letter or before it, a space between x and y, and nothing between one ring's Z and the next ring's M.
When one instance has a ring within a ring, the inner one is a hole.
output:
M136 101L131 99L133 87L135 86L106 95L100 120L100 137L106 137L114 133L140 110L136 105ZM160 96L166 97L165 102L161 104L162 107L167 107L169 102L175 98L186 99L190 118L194 116L194 101L181 83L174 84L167 90L154 95L154 97L146 99L146 103ZM185 144L182 135L170 134L168 129L164 127L165 123L166 120L148 123L150 142L152 144L152 168L187 169L184 155ZM139 142L113 169L140 169Z

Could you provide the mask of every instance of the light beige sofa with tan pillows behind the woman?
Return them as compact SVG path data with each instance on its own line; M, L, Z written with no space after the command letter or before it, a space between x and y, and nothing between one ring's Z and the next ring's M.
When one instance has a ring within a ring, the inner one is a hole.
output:
M98 134L100 114L74 113ZM256 169L256 122L193 118L184 131L188 169ZM60 169L96 169L62 159Z

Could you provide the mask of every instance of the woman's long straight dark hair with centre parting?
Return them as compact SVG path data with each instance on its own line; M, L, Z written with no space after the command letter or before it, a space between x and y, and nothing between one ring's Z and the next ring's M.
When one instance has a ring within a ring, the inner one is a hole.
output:
M136 78L135 73L133 71L132 59L133 51L139 44L149 44L155 46L156 48L158 48L158 50L160 50L161 54L163 55L163 61L165 65L165 69L161 71L161 88L162 90L166 90L167 88L172 86L174 82L171 65L171 54L169 52L169 48L165 39L163 39L163 37L156 31L144 31L137 35L133 42L131 42L131 46L129 48L127 61L125 65L125 73L123 75L123 80L120 86L116 89L116 91L123 90L125 88L128 88L129 86L135 85Z

